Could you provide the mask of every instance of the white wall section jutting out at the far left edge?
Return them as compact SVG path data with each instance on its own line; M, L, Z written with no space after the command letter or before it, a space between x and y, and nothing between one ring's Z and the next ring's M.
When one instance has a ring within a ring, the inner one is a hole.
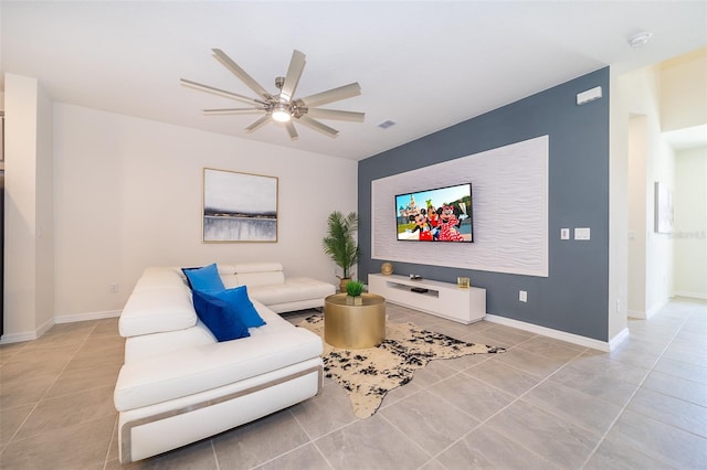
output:
M4 332L53 324L52 103L35 78L6 74Z

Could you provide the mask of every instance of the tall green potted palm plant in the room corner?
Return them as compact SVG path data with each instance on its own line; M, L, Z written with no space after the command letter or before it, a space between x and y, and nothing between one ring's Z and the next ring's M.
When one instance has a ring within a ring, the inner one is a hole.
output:
M323 238L324 253L341 268L339 277L339 290L346 290L346 285L351 280L351 267L358 263L361 254L354 233L358 231L358 215L351 212L348 215L334 211L327 220L327 235ZM338 276L337 276L338 277Z

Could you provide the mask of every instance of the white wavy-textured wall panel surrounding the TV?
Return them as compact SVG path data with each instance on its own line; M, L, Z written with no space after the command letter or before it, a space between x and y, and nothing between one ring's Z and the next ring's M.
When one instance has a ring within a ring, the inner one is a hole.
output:
M548 276L549 136L381 178L371 183L371 257ZM472 183L474 243L395 239L397 194Z

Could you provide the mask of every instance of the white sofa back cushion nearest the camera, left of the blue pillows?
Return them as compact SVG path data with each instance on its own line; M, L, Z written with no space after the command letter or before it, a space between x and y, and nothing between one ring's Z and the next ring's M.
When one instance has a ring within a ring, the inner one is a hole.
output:
M138 285L141 282L138 281ZM197 324L191 291L183 284L163 288L135 289L123 308L122 337L182 330Z

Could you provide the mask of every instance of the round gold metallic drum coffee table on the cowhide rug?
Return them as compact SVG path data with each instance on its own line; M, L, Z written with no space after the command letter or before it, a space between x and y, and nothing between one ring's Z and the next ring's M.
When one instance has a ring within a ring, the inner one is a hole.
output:
M324 299L324 341L335 348L374 348L386 339L386 299L362 293L363 303L351 306L346 293Z

